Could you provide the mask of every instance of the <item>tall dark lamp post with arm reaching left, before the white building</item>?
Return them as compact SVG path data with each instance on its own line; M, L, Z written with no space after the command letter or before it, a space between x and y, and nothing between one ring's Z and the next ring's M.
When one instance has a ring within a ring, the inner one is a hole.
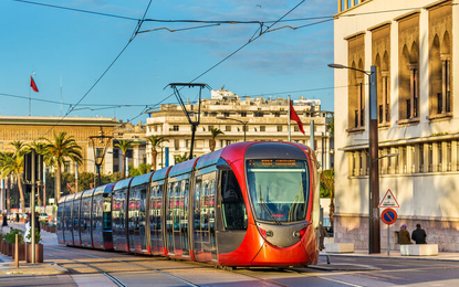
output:
M379 233L379 169L378 169L378 126L377 126L377 87L376 87L376 66L372 65L371 71L364 71L341 64L328 64L333 68L348 68L368 76L369 92L369 194L368 194L368 253L380 253Z

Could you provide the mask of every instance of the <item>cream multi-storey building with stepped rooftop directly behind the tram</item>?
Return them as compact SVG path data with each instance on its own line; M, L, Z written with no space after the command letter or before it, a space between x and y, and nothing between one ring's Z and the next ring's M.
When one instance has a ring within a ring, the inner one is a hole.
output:
M295 121L291 121L292 141L311 146L310 123L315 125L315 149L322 169L333 168L333 140L326 124L333 115L321 110L321 102L301 97L294 102L296 114L301 118L305 136L299 130ZM188 110L197 110L197 105L187 104ZM216 138L216 150L233 142L243 141L286 141L288 140L288 100L285 98L239 97L231 92L211 91L210 99L201 100L200 125L196 131L194 156L210 152L210 129L219 128L225 135ZM146 135L164 136L158 150L156 169L165 167L166 148L169 150L169 164L174 164L174 156L189 156L191 145L191 126L179 105L161 105L158 110L149 113ZM195 116L197 116L195 114ZM244 131L246 128L246 131ZM152 148L147 145L147 161L152 162Z

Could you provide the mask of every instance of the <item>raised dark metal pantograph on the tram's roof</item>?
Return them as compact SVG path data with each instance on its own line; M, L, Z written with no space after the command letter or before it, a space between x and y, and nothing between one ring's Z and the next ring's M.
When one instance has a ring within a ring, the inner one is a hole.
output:
M200 117L201 117L201 93L202 93L202 88L206 87L209 91L211 91L211 88L207 84L199 84L199 83L170 83L166 87L168 87L168 86L170 86L174 89L174 95L176 96L178 103L180 103L180 106L184 109L184 113L188 118L188 123L191 125L191 147L190 147L190 152L189 152L189 159L192 159L192 148L195 146L196 128L199 126L199 121L200 121ZM180 88L177 88L177 87L180 87ZM181 99L180 91L184 87L189 87L189 88L199 87L198 117L197 117L197 119L196 118L191 119L191 117L190 117L190 116L192 116L192 117L195 116L195 111L192 111L192 105L191 105L191 111L188 111L187 107L185 106L184 100Z

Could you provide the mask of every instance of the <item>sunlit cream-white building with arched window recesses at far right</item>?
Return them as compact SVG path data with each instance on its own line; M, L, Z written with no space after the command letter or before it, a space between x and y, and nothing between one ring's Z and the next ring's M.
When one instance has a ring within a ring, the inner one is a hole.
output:
M400 208L394 230L419 223L427 242L459 251L459 38L455 1L338 0L334 63L376 66L379 199ZM458 44L456 44L458 43ZM335 237L368 248L368 77L335 70ZM382 210L380 210L382 211ZM380 223L380 234L387 225ZM382 248L387 246L382 236ZM397 248L392 240L392 248Z

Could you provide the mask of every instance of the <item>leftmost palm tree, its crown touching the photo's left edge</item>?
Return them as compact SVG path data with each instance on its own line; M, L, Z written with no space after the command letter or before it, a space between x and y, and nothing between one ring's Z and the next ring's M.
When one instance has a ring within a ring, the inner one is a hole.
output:
M22 145L21 145L22 146ZM22 171L24 157L21 150L17 152L2 152L0 156L0 171L3 179L8 177L15 178L19 188L19 196L21 199L21 208L25 211L25 198L22 188Z

